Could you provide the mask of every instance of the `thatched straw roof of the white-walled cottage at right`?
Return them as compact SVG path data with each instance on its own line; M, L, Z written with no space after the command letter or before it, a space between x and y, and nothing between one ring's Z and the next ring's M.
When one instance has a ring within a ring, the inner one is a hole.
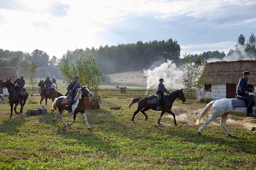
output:
M256 84L256 60L218 61L207 63L204 61L202 74L207 72L212 79L211 84L238 84L244 71L250 71L248 84Z

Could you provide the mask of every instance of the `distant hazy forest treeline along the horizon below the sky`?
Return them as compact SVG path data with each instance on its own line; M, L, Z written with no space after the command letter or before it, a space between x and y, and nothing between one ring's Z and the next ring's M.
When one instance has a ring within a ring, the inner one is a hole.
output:
M256 38L252 33L248 40L245 36L240 34L235 49L230 49L226 55L224 52L207 51L201 54L186 54L190 55L190 60L193 62L198 56L202 56L203 60L216 58L222 60L224 57L238 53L241 56L245 55L241 52L241 48L246 52L246 55L256 56ZM180 56L180 45L172 38L167 41L154 40L143 43L138 41L136 44L118 44L115 46L100 46L99 49L92 47L91 49L76 49L74 51L67 50L62 58L68 58L70 63L75 63L80 58L89 58L93 56L96 64L104 74L126 72L133 70L147 69L151 65L159 66L165 63L167 59L173 61L178 67L182 63ZM35 61L38 64L36 78L44 77L46 75L61 79L60 72L57 65L61 59L53 56L51 59L49 55L41 50L35 49L32 53L22 51L9 51L0 49L0 67L18 67L18 73L24 74L20 68L19 63L22 60Z

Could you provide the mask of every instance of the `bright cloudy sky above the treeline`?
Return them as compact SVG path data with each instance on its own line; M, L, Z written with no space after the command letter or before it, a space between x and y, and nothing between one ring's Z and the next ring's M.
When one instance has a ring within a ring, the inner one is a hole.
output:
M226 54L256 34L255 0L0 0L0 49L67 50L172 38L181 56Z

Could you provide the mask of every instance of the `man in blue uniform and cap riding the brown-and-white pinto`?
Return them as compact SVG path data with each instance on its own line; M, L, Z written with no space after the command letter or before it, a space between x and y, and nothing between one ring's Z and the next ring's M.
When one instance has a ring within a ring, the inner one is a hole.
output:
M78 90L79 88L81 88L80 83L78 82L79 77L76 75L74 76L74 81L70 82L67 90L69 93L69 110L68 112L71 113L71 106L72 106L72 102L73 102L73 98L76 95L76 90Z

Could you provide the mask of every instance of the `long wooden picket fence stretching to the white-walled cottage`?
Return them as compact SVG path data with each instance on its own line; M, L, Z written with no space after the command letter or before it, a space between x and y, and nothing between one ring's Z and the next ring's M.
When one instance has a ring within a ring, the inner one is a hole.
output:
M167 89L170 92L180 90L180 89ZM152 94L156 95L157 88L100 88L99 93L101 95L113 95L113 96L149 96ZM186 90L183 89L185 98L197 98L197 90Z

